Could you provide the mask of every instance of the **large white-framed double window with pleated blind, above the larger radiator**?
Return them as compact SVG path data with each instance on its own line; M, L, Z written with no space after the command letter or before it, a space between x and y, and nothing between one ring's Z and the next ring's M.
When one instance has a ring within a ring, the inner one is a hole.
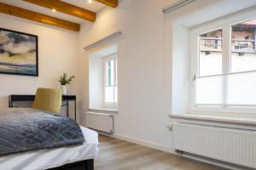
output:
M256 20L198 33L194 108L256 107Z

